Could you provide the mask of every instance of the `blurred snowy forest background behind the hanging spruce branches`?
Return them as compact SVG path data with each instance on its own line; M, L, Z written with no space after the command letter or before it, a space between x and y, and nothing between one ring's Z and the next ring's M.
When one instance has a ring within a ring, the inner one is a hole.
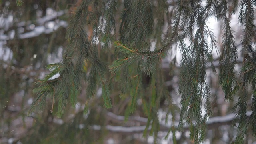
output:
M138 101L138 109L128 118L124 116L127 98L116 99L111 110L103 108L101 90L90 100L92 108L88 114L83 113L85 90L78 97L76 108L69 106L61 118L50 112L52 100L42 112L35 110L27 116L30 105L36 98L32 90L34 82L49 73L46 65L61 62L65 51L66 28L70 16L74 14L81 0L24 0L17 6L15 0L0 1L0 143L1 144L151 144L152 136L143 137L147 119L142 114ZM120 5L122 5L120 0ZM154 1L155 2L155 1ZM175 2L169 3L169 14L175 8ZM118 14L116 12L119 23ZM171 16L171 15L170 15ZM238 50L241 27L237 24L236 15L230 16ZM221 52L222 23L214 18L211 24L219 50L214 52L214 65L217 74L211 68L207 73L212 92L212 119L209 120L205 144L230 144L236 136L236 128L230 126L234 118L231 108L236 101L226 103L224 94L218 86L218 54ZM119 24L117 24L119 25ZM89 29L90 31L90 29ZM170 91L173 103L179 106L178 92L179 50L172 51L176 55L176 63L172 56L162 61L165 83ZM102 52L104 54L104 52ZM242 53L242 52L241 52ZM241 62L241 61L240 61ZM239 64L237 67L239 68ZM57 76L56 76L57 77ZM146 82L147 80L145 80ZM112 97L118 92L112 93ZM250 102L248 102L250 105ZM168 105L163 102L163 105ZM249 106L250 107L250 106ZM174 119L166 120L167 109L160 108L158 117L160 131L159 144L172 144L176 138L178 144L192 144L188 129L184 132L172 132L166 137L170 126L179 120L179 112ZM250 109L248 109L250 116ZM170 123L174 123L171 125ZM165 138L166 137L166 138ZM254 136L248 134L246 144L256 144Z

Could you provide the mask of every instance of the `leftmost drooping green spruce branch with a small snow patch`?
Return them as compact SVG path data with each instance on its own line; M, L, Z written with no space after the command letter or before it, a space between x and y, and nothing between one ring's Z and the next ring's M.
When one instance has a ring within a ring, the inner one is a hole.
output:
M36 94L40 94L39 97L54 96L54 100L58 100L58 116L64 113L67 104L70 103L75 107L77 103L76 97L79 95L82 80L90 83L87 87L88 98L95 95L96 88L100 84L99 77L102 77L102 81L104 81L104 74L107 70L106 64L98 58L98 54L94 49L95 45L89 42L88 38L90 36L86 34L84 28L85 24L90 25L92 24L90 22L95 22L88 21L88 17L92 14L91 4L92 1L83 1L76 10L66 33L66 39L69 44L63 55L63 61L48 65L47 68L52 72L41 80L40 87L34 90ZM85 67L88 66L88 60L92 63L92 68L87 78L86 71L88 68ZM50 78L57 73L60 74L60 77L51 80ZM106 101L107 107L110 108L109 90L104 84L102 86L104 100L108 100Z

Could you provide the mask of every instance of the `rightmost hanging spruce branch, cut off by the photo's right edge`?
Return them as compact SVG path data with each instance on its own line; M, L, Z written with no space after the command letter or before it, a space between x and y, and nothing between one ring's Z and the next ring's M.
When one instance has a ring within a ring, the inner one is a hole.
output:
M241 24L245 24L244 34L242 38L242 48L244 50L243 66L240 72L242 77L242 94L239 95L238 102L234 106L234 112L236 112L236 122L238 122L238 133L236 135L236 144L244 142L247 134L248 120L246 118L247 100L248 100L248 84L252 83L253 74L249 71L255 70L254 59L256 54L252 47L252 39L255 40L256 34L254 29L254 7L256 3L253 0L242 0L240 2L239 21ZM252 65L253 64L253 65ZM255 90L255 86L253 86ZM253 95L254 96L254 95ZM237 110L237 111L236 111ZM255 111L253 111L255 112ZM252 113L252 116L255 116ZM253 117L250 117L254 119ZM250 122L250 120L249 120ZM250 122L250 124L252 124ZM254 133L255 134L255 133Z

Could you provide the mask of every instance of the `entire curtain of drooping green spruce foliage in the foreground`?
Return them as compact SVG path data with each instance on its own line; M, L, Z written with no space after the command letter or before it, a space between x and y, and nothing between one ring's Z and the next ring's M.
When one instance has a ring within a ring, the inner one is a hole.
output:
M174 119L177 106L172 104L164 83L161 60L172 49L182 53L180 62L179 90L181 100L179 130L189 126L190 138L196 144L203 142L206 136L206 123L212 116L212 97L207 81L208 65L214 68L212 52L217 48L216 38L207 25L211 16L223 22L222 52L220 52L219 84L224 91L225 100L238 101L233 107L236 113L234 126L238 127L235 144L242 144L248 128L256 134L256 52L254 0L177 0L174 8L168 10L166 0L83 0L70 20L66 32L68 46L61 63L50 64L46 68L50 74L38 80L38 88L28 115L38 104L44 110L46 99L52 99L51 112L61 117L68 104L77 104L77 96L86 83L87 113L91 105L90 98L96 96L101 88L105 108L112 108L113 92L119 91L120 98L129 98L125 116L136 111L138 100L142 100L142 109L148 117L144 136L148 130L156 143L160 129L158 110L161 101L168 102L168 115ZM22 1L17 0L17 5ZM121 13L117 13L118 9ZM238 50L234 34L230 27L231 14L239 12L239 22L244 25L242 35L243 63L238 70ZM172 17L170 16L172 15ZM167 18L166 18L167 17ZM117 25L116 21L120 21ZM168 24L164 32L165 24ZM92 31L90 31L92 29ZM152 42L156 43L150 50ZM188 43L188 44L187 44ZM103 52L102 52L103 51ZM108 61L104 62L107 54ZM56 74L58 78L52 79ZM239 74L239 77L237 76ZM144 86L144 77L149 77ZM248 89L252 88L252 96ZM238 92L240 91L240 92ZM247 101L252 99L252 114L247 119ZM54 109L56 103L56 109ZM175 128L173 133L175 139Z

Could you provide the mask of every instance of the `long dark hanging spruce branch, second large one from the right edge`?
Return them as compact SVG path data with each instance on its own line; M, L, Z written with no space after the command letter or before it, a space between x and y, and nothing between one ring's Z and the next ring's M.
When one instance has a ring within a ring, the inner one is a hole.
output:
M174 32L178 47L182 52L180 63L179 93L181 94L180 130L184 124L190 126L190 138L195 143L204 141L206 122L212 114L210 88L206 81L207 64L212 65L212 50L216 48L213 32L206 26L206 21L214 14L216 1L208 0L206 6L195 1L178 1L177 17ZM182 26L184 31L175 32ZM194 34L196 28L196 34ZM185 39L190 45L185 45ZM211 42L208 43L208 38ZM202 104L205 100L206 114L202 114Z

